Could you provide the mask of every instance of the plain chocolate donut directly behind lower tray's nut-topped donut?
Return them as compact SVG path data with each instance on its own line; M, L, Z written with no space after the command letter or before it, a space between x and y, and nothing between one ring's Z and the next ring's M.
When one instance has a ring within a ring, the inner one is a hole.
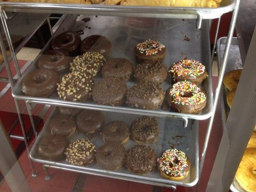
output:
M76 118L78 130L84 133L97 132L104 124L104 115L100 111L84 109Z

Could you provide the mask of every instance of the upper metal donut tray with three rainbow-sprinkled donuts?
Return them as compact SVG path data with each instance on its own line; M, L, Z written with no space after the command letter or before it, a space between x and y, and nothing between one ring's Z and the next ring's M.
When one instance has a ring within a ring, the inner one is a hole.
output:
M54 34L57 34L73 29L77 31L83 29L85 24L91 26L91 29L85 28L84 35L82 39L86 36L99 34L108 37L112 42L112 51L111 57L124 57L131 60L135 63L133 48L134 46L144 41L147 38L154 38L163 42L167 48L167 57L164 61L167 68L170 67L172 63L175 63L178 60L181 60L185 57L196 59L201 61L206 65L208 77L201 85L202 89L207 93L207 106L202 110L200 114L183 114L177 113L174 111L164 111L161 109L158 110L145 110L137 108L128 108L128 107L112 107L106 105L97 105L92 100L88 100L86 103L82 102L72 102L61 100L55 91L49 98L40 98L25 96L21 92L21 84L24 76L21 80L15 85L13 90L13 96L17 99L29 100L34 103L43 103L50 105L61 105L67 107L76 107L76 108L90 108L98 109L105 111L115 111L122 113L133 113L138 115L150 115L158 117L180 117L180 118L189 118L196 120L204 120L211 116L212 114L212 105L213 105L213 94L212 94L212 75L211 75L211 65L210 65L210 45L209 45L209 25L207 21L203 22L204 30L196 30L194 27L194 20L179 20L179 19L156 19L155 27L151 29L138 29L131 26L127 26L125 17L112 17L112 16L98 16L91 17L90 23L84 23L81 21L81 18L85 16L80 16L78 21L73 24L69 22L69 19L66 18L62 22L58 31ZM73 21L73 20L70 20ZM161 30L159 30L161 29ZM184 38L189 37L190 41L184 40ZM41 53L49 48L50 41L47 43L46 47L42 49ZM38 56L39 57L39 56ZM37 59L38 59L37 57ZM27 71L31 72L37 68L37 59L31 65L30 69ZM26 74L27 74L26 73ZM97 82L100 79L100 75L95 78ZM134 79L132 78L127 82L128 88L131 88L135 84ZM164 90L167 90L170 87L169 83L163 83L162 87Z

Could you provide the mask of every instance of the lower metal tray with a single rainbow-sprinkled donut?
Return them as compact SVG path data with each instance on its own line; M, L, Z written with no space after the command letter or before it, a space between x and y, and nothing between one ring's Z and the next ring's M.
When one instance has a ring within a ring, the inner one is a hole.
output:
M107 123L113 120L122 120L128 126L130 126L135 119L141 117L139 115L134 115L134 114L124 115L122 113L116 113L116 112L102 111L102 113L105 116L104 125L106 125ZM175 147L179 150L182 150L190 158L191 169L190 169L189 175L183 180L174 181L174 180L168 180L168 179L162 178L158 172L158 168L156 168L155 170L145 175L138 175L129 171L127 168L125 168L125 166L123 166L117 171L110 171L110 170L100 168L95 160L93 163L86 166L74 166L67 163L64 157L63 157L63 160L59 162L42 159L37 152L38 144L42 138L47 137L47 135L50 134L49 122L51 118L57 114L59 114L59 110L58 108L55 107L55 109L49 115L48 120L45 122L45 125L42 128L41 132L39 133L37 140L35 141L30 152L30 158L33 161L47 164L53 167L68 168L71 171L72 170L79 171L79 172L84 172L87 174L93 174L93 175L98 175L103 177L110 177L110 178L116 178L116 179L122 179L122 180L131 180L134 182L142 182L142 183L148 183L148 184L166 186L166 187L168 187L168 185L181 185L181 186L191 187L191 186L194 186L198 181L198 167L199 167L198 146L199 144L198 144L198 121L197 120L189 120L188 127L184 128L182 120L172 120L170 118L158 118L159 134L158 134L157 141L154 144L147 144L147 145L150 145L155 150L157 157L160 157L165 150L170 149L171 147ZM71 136L68 139L69 139L69 142L72 142L73 140L78 138L82 139L82 138L86 138L86 136L84 133L76 132L73 136ZM97 148L104 144L103 140L101 139L100 133L95 133L94 137L91 138L90 141L93 144L95 144ZM136 143L130 139L123 146L127 150L132 148L135 144Z

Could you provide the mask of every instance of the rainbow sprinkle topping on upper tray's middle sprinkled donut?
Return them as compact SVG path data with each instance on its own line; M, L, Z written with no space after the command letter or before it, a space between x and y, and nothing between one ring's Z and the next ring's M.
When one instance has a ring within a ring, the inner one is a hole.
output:
M197 77L205 72L206 67L197 60L181 60L173 65L171 65L171 73L177 76L192 76ZM173 78L174 78L173 77Z

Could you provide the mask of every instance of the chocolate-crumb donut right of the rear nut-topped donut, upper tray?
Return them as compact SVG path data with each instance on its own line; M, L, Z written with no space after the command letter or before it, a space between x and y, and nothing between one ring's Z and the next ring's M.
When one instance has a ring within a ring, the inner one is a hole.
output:
M131 61L124 58L114 58L107 60L102 67L102 77L118 77L123 81L128 81L134 71L134 66Z

